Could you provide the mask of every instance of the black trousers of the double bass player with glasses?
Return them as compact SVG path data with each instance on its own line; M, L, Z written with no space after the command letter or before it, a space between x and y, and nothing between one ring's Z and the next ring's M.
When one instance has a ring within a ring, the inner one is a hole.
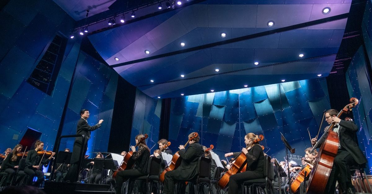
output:
M341 148L337 151L337 155L333 160L333 166L325 186L324 193L334 193L336 181L339 182L341 189L351 185L350 165L355 165L356 162L352 155L345 149ZM343 188L342 188L343 187Z

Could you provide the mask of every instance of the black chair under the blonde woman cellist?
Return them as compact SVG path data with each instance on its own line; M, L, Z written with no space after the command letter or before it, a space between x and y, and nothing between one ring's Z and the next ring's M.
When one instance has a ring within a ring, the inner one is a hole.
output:
M264 156L264 165L263 165L263 178L253 179L244 181L241 185L243 194L246 194L246 187L249 188L248 193L254 193L254 189L258 187L263 188L266 194L273 193L272 191L272 168L273 164L270 162L271 157L269 155Z

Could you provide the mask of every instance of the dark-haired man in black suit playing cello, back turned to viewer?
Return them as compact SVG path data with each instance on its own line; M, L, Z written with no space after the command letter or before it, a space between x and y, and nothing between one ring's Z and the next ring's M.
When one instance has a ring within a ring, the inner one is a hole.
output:
M194 135L195 132L189 134L189 138ZM187 150L183 145L178 148L180 151L180 157L182 158L180 166L176 170L169 171L164 177L164 194L174 193L174 182L182 180L191 180L198 175L198 159L204 156L202 145L199 144L199 136L189 141L189 147ZM183 185L184 187L184 185Z

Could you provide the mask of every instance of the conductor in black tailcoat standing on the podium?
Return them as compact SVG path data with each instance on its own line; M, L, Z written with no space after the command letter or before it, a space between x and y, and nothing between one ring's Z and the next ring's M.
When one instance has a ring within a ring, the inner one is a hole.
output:
M76 128L76 134L84 135L85 141L82 142L81 137L77 137L74 142L74 148L71 156L71 166L70 169L68 169L67 175L65 177L66 181L75 182L78 178L79 173L79 164L80 160L83 159L83 157L80 155L80 149L83 147L83 150L87 150L87 143L88 139L90 138L90 132L96 130L99 128L103 122L103 120L99 120L99 122L94 125L90 126L87 122L87 119L89 118L89 110L83 109L80 111L80 120L77 122L77 128ZM84 155L83 155L84 156Z

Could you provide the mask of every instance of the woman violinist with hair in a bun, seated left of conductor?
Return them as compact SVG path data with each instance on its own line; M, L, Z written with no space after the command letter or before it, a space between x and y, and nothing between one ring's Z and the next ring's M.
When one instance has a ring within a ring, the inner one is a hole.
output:
M40 165L42 164L48 164L49 160L52 159L55 152L52 152L51 156L47 159L42 160L42 155L38 155L38 151L42 151L44 148L44 142L38 140L35 143L35 149L31 149L26 158L26 168L24 172L28 175L30 175L28 179L28 185L31 184L31 181L33 180L33 177L38 177L38 180L34 184L35 187L39 187L40 183L44 181L44 172L39 170ZM41 161L41 162L40 162Z

